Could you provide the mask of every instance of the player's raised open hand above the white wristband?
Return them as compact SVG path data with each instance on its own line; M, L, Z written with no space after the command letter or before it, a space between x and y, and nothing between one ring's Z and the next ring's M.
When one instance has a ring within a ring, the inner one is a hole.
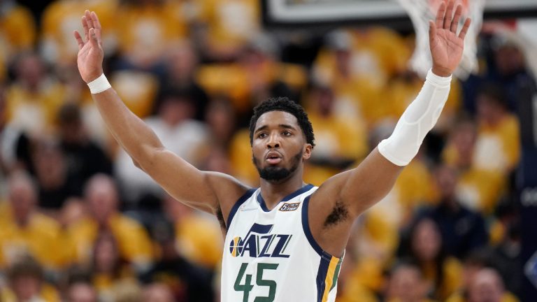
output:
M85 39L74 31L78 43L78 72L85 82L91 82L103 73L103 47L101 41L101 23L95 12L86 10L82 17Z

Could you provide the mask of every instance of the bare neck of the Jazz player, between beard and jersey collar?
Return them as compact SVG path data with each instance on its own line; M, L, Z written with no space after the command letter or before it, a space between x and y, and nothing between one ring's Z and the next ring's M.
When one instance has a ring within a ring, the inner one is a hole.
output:
M297 173L282 182L269 182L262 179L261 196L266 203L266 207L268 209L274 208L285 196L306 185L301 176L301 173Z

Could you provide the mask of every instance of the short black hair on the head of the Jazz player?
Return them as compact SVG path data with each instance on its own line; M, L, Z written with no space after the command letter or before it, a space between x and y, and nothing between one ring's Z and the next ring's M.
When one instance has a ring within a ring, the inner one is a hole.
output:
M267 99L266 101L255 106L254 115L252 115L252 118L250 119L250 145L252 145L254 140L255 124L257 124L257 120L259 120L259 117L261 117L264 113L268 113L270 111L284 111L294 115L296 120L299 122L302 133L304 136L306 136L306 142L312 145L312 147L315 147L313 126L308 119L308 114L298 103L282 96Z

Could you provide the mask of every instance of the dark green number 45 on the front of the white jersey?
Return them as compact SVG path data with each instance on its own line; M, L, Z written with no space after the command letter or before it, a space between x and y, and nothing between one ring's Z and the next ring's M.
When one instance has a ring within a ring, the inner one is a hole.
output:
M254 288L252 285L252 275L246 274L244 279L244 284L241 285L241 280L243 280L244 272L248 267L247 263L243 263L241 268L238 270L238 275L235 280L234 289L236 292L244 292L243 302L248 302L248 297L250 296L250 291ZM263 271L266 269L275 270L278 268L278 264L266 264L259 263L257 264L257 275L255 278L255 284L258 286L267 286L268 287L268 296L255 297L254 302L273 302L276 294L276 282L274 280L264 280Z

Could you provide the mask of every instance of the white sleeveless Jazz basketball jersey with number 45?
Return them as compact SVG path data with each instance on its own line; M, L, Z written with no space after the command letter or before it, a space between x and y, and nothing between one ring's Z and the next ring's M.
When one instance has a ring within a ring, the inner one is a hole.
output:
M306 185L268 210L260 189L237 201L227 220L223 302L327 302L336 299L342 258L315 242Z

